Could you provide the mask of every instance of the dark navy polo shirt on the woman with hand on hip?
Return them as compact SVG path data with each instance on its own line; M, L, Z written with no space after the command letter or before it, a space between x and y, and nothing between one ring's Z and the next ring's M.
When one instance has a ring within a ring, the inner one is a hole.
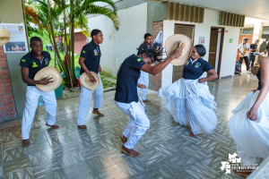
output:
M191 63L191 58L187 60L184 65L183 78L187 80L196 80L202 76L204 72L212 70L211 64L203 60L203 58L197 59L195 62Z

